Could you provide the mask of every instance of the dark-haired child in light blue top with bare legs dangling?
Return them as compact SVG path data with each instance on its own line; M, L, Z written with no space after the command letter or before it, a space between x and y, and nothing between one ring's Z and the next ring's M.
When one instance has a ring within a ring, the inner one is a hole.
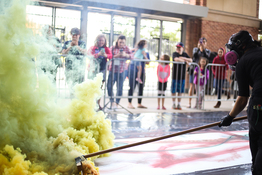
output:
M135 53L135 56L134 56L136 59L142 60L145 57L145 59L148 60L147 55L146 55L146 46L147 46L146 40L140 40L138 42L137 50L136 50L136 53ZM137 69L138 69L136 81L138 81L140 84L142 84L143 81L141 80L141 73L142 73L141 62L137 61L136 66L137 66Z

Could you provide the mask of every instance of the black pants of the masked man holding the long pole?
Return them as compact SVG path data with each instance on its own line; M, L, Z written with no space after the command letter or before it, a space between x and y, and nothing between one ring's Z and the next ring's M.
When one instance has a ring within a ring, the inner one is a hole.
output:
M261 97L251 97L248 106L249 145L252 155L253 175L262 174L262 105ZM255 107L255 109L254 109Z

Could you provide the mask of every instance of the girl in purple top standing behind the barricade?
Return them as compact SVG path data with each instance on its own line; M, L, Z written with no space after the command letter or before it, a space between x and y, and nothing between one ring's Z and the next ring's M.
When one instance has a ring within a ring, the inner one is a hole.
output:
M200 67L200 71L199 68L196 67L195 71L194 71L194 84L195 84L195 88L197 89L197 85L198 85L198 74L199 74L199 91L197 91L197 95L199 97L199 99L196 100L196 109L201 109L202 108L202 101L203 101L203 97L204 97L204 86L207 83L207 80L209 79L209 70L206 69L208 60L205 57L201 57L198 65ZM199 92L199 94L198 94Z

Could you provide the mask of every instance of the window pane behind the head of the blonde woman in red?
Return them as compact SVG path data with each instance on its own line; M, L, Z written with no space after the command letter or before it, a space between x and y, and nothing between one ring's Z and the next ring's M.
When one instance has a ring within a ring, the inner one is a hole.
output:
M88 13L87 48L94 45L97 35L104 34L109 46L111 15L102 13Z

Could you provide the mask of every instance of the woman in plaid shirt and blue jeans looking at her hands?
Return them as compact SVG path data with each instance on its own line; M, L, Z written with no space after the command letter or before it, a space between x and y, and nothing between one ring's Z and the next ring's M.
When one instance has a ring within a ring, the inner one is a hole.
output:
M126 60L133 59L132 51L126 46L126 37L124 35L119 35L116 41L116 45L111 48L113 59L109 65L109 75L107 81L107 91L108 95L111 97L110 102L113 108L117 108L120 102L120 98L116 98L114 101L113 86L115 82L117 83L117 96L122 96L123 93L123 83L125 80L125 69ZM115 102L115 103L113 103Z

